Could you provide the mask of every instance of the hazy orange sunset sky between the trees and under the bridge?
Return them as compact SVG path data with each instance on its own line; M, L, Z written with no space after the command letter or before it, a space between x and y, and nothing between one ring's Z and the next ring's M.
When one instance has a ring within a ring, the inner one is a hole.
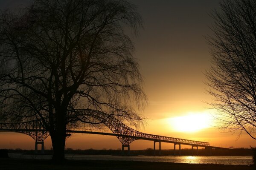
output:
M13 8L29 0L0 0L0 8ZM217 147L250 147L255 140L242 133L226 133L215 127L212 110L206 102L204 72L211 56L204 36L212 34L209 16L220 0L129 0L144 20L144 29L134 41L148 105L139 131L162 136L209 142ZM173 144L162 143L162 149ZM0 148L34 149L34 140L21 133L0 132ZM51 148L50 138L45 140ZM73 149L117 149L122 144L115 136L74 134L66 147ZM130 149L153 147L153 142L137 140ZM182 146L183 148L190 146Z

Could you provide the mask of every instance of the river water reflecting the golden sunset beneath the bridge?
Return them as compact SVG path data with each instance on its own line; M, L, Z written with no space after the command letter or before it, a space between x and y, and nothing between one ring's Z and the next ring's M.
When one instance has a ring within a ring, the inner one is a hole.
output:
M9 153L11 158L51 159L51 155L25 155ZM111 155L65 155L70 160L115 160L115 161L154 161L189 164L253 164L252 156L111 156Z

